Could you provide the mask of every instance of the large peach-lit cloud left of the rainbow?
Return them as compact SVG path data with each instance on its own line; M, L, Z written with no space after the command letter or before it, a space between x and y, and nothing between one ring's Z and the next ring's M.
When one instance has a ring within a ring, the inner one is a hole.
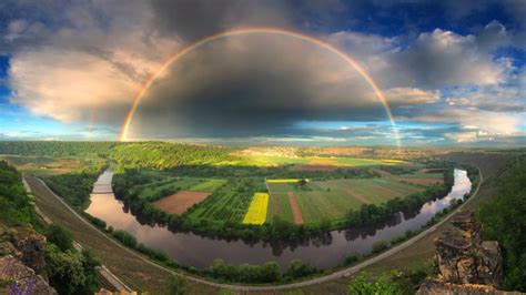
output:
M140 2L114 11L107 22L100 20L98 9L111 14L117 8L110 2L98 2L94 9L71 4L65 18L72 26L40 30L45 42L34 34L39 32L34 28L41 28L38 22L9 24L6 39L33 42L12 52L12 103L68 123L93 116L100 122L122 120L115 114L127 111L140 85L180 44L150 30L151 12Z

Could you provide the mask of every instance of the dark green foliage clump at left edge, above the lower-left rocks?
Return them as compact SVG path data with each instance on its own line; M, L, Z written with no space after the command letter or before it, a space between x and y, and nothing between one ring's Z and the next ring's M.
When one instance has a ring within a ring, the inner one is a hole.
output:
M33 220L33 206L22 185L22 176L0 161L0 221L8 225L24 225Z

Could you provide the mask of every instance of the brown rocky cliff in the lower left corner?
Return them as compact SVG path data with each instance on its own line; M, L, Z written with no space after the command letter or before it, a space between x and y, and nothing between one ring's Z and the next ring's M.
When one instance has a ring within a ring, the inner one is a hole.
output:
M42 276L45 237L0 224L0 294L57 294Z

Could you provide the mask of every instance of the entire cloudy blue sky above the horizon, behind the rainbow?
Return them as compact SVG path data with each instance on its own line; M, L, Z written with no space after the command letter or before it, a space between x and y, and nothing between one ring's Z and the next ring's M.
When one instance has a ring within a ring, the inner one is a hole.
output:
M526 1L3 0L0 140L526 145ZM287 33L210 35L273 28ZM394 123L394 124L393 124Z

